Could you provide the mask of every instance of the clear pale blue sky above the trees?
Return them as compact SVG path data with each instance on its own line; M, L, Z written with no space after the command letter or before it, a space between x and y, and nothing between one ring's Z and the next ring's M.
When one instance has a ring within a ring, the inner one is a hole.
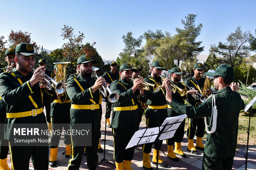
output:
M204 46L201 55L209 54L211 44L225 42L238 26L254 36L256 29L255 0L0 0L0 4L0 35L5 40L11 29L22 30L45 49L61 48L65 24L76 34L84 33L84 44L96 42L94 47L104 60L116 58L123 50L121 37L126 33L131 31L137 38L159 29L175 35L187 14L197 14L196 25L203 24L197 38Z

